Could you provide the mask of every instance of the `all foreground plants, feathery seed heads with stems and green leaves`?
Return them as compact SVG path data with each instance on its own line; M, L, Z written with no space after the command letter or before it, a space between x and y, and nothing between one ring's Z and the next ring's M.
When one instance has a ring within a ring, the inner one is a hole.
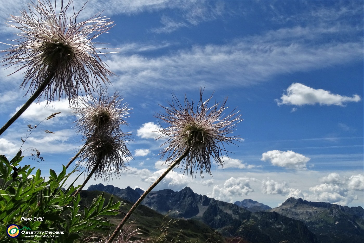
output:
M113 22L100 14L78 22L78 15L84 8L85 5L80 10L74 9L72 0L60 0L57 6L55 1L37 0L29 3L20 16L10 15L7 21L9 27L19 31L19 39L3 43L10 47L2 51L5 53L2 62L14 68L13 73L22 72L24 79L20 88L27 90L25 95L30 97L0 129L0 136L34 101L44 99L51 105L65 97L77 117L75 130L82 135L82 146L70 162L65 161L66 166L57 168L60 173L50 169L49 179L42 176L40 169L25 165L23 160L24 151L31 151L32 159L43 161L41 149L22 150L20 147L12 159L0 155L1 232L7 232L11 224L23 225L22 217L44 217L43 221L28 221L30 229L64 232L60 238L32 240L22 234L16 238L0 234L0 243L95 242L96 238L88 232L107 235L99 242L148 242L135 239L139 229L134 229L128 221L147 194L177 167L191 180L197 174L212 177L211 166L224 166L223 155L228 153L225 146L240 139L233 135L234 128L242 121L240 111L228 111L226 99L219 103L213 101L211 95L204 100L202 88L197 103L186 95L181 102L173 94L167 105L160 105L163 112L155 115L165 127L157 131L155 138L164 140L159 155L168 168L161 177L142 194L117 226L106 217L118 215L125 204L100 194L88 206L84 205L82 189L88 180L118 178L133 159L127 147L131 134L123 129L131 109L117 91L110 95L103 87L111 83L109 77L114 73L102 60L107 53L101 53L98 43L93 42L110 30ZM53 119L59 113L44 120ZM23 144L39 127L40 123L28 125L27 135L21 138ZM78 162L71 169L76 158ZM83 173L86 178L82 185L70 181L70 176L77 171L77 178ZM163 234L167 234L165 229L159 237L151 239L152 242L164 242Z

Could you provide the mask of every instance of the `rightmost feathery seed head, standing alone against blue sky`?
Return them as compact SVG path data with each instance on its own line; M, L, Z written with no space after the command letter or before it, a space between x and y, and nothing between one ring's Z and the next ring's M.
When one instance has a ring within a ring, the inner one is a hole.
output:
M169 124L169 127L160 130L161 135L157 137L168 138L167 145L161 152L161 156L167 157L165 163L172 163L179 158L186 150L189 154L181 161L183 173L190 173L191 178L194 171L203 171L211 174L211 158L216 162L216 166L223 166L222 153L227 153L224 144L234 143L238 140L236 136L230 136L233 128L242 119L239 112L225 114L226 99L220 104L215 103L209 106L212 95L206 101L202 100L203 90L200 89L199 102L195 106L193 101L187 100L182 105L173 94L173 101L167 101L169 107L163 107L165 113L158 113L156 117Z

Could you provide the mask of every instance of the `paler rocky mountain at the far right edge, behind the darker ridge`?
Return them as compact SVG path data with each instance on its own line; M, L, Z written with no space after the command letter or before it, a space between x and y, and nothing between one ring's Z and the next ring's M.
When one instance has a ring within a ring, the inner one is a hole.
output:
M288 198L280 207L269 209L304 222L320 242L364 242L364 209L328 202L309 202Z

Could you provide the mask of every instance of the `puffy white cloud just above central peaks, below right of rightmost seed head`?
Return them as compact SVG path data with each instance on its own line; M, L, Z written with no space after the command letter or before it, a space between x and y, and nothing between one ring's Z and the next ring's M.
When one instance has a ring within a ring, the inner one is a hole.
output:
M250 181L256 181L256 179L249 177L231 177L223 185L215 185L212 193L209 193L208 196L221 201L233 202L234 197L242 197L243 195L248 195L250 192L254 192L254 189L250 186Z

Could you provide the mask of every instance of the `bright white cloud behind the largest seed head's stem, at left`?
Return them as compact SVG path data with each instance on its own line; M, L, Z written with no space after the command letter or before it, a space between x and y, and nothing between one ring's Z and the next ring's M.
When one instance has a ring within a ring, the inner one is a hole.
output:
M28 109L20 116L24 120L28 121L43 121L52 113L61 112L56 115L54 118L50 120L46 120L45 122L54 122L58 121L60 117L72 116L72 109L69 107L68 100L57 100L54 101L51 105L47 106L47 100L41 101L39 103L32 103ZM21 106L16 108L16 112L19 111ZM11 116L13 116L11 114Z

